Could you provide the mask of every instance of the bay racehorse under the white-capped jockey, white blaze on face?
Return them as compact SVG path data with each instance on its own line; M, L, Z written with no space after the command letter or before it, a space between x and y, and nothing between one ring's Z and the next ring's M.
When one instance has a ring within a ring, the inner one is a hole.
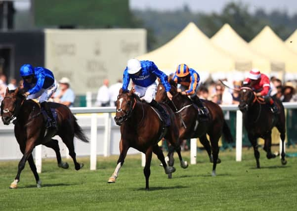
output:
M155 153L162 162L166 174L174 172L175 169L173 167L167 166L163 152L158 146L158 142L162 137L168 139L172 146L174 146L174 149L178 153L181 167L188 167L188 164L182 160L180 146L177 144L178 130L175 122L176 119L167 105L162 104L170 114L170 127L164 127L164 123L160 120L155 109L148 103L140 101L139 97L133 93L133 90L123 92L121 88L116 106L115 122L117 125L121 126L120 156L117 167L109 178L108 183L116 182L119 170L124 164L127 151L130 147L145 154L146 160L143 173L145 176L146 190L149 189L152 152Z

